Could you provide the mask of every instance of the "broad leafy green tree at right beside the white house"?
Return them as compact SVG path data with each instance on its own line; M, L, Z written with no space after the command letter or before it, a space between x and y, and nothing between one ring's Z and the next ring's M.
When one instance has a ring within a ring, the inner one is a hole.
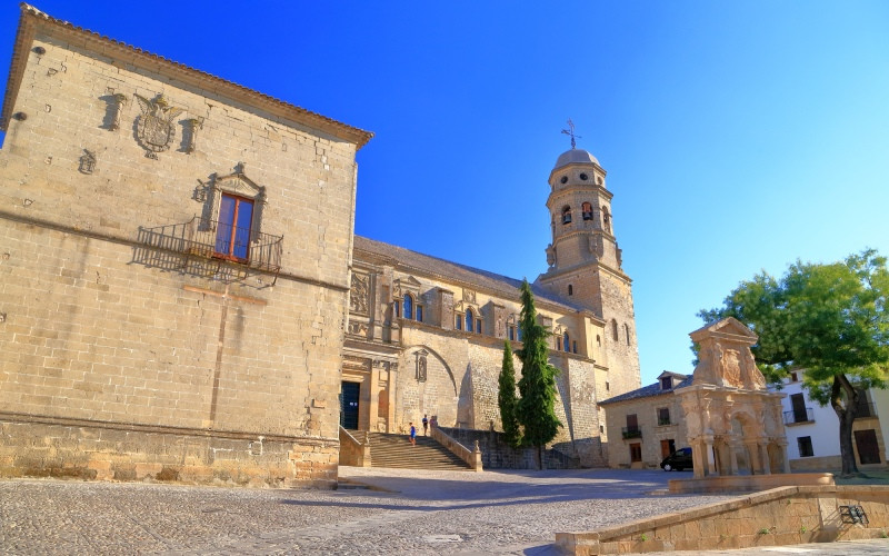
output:
M797 261L781 279L766 272L743 281L725 306L698 314L705 321L732 316L759 336L752 348L763 375L779 383L790 366L806 370L809 396L840 421L842 475L858 473L852 424L859 393L889 379L889 270L875 250L843 262Z

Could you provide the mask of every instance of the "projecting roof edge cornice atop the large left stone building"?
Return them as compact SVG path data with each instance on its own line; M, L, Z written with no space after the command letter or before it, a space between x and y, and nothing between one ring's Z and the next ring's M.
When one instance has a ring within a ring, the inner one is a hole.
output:
M356 150L367 145L373 137L371 131L342 123L211 73L56 19L28 3L21 4L21 18L19 19L16 43L12 49L12 62L10 64L9 79L7 80L3 109L0 112L0 129L2 130L6 130L9 125L10 112L21 87L30 46L38 30L46 32L50 37L67 40L73 46L82 47L86 50L101 53L114 60L130 62L141 69L163 73L183 83L213 91L226 99L243 102L271 115L324 131L353 143Z

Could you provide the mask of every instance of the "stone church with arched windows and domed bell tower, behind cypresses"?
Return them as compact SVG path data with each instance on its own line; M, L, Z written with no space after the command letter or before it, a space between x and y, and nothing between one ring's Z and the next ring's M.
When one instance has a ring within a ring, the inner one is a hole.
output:
M550 363L560 369L557 414L565 427L553 444L580 465L605 464L598 400L639 386L632 291L605 177L585 150L558 158L547 200L549 268L532 285L552 331ZM503 341L521 344L519 285L356 237L343 426L397 433L429 415L443 427L500 429Z

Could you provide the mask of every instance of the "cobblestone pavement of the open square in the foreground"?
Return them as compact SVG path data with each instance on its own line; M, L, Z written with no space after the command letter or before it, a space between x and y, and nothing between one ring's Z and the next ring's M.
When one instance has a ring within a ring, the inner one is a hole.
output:
M537 556L553 553L557 532L730 498L652 495L678 474L648 470L340 475L379 490L0 480L0 554ZM889 553L889 542L875 546Z

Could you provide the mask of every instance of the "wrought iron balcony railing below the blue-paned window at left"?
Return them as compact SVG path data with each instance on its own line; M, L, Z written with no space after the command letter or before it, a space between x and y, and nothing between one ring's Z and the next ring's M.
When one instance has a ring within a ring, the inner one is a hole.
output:
M149 247L169 251L229 260L274 274L281 270L283 236L197 216L183 224L140 228L139 239Z

